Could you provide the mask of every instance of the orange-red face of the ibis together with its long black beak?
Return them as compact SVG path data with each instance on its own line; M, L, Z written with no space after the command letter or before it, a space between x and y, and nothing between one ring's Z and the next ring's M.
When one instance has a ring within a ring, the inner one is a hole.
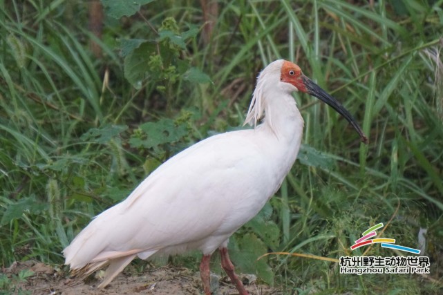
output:
M322 102L329 104L334 108L337 113L342 115L348 120L348 122L354 127L354 129L359 133L361 141L368 143L368 138L364 135L363 131L355 119L350 115L350 113L344 108L332 95L324 91L320 86L312 82L311 79L303 75L301 69L296 64L290 61L284 61L283 66L281 66L280 81L285 83L290 83L294 85L299 91L303 93L308 93L314 97L317 97Z

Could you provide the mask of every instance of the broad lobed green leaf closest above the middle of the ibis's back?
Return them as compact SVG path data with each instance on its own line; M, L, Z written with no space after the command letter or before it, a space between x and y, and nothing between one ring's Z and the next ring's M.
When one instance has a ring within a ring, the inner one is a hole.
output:
M131 137L129 144L133 147L144 147L150 149L159 144L178 142L187 135L187 124L176 126L171 119L162 119L158 122L147 122L140 125L140 129L146 137Z

